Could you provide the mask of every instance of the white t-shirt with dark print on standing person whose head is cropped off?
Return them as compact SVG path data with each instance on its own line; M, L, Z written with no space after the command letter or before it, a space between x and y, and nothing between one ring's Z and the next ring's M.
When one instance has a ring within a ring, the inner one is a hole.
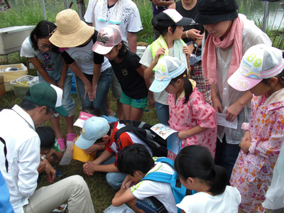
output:
M111 13L114 11L114 7L108 9L107 14L107 22L104 21L98 21L97 17L99 16L99 6L96 5L96 8L94 9L94 4L97 0L89 0L89 4L87 7L87 11L84 14L84 20L87 23L93 22L93 15L95 16L95 23L93 23L93 26L96 28L97 31L104 28L107 25L110 25L109 18L111 17ZM121 17L121 23L118 24L121 28L121 36L122 40L126 43L128 46L128 40L127 40L127 33L138 33L139 31L143 30L141 19L140 19L140 13L138 11L138 8L136 4L131 0L124 0L124 11L122 13Z

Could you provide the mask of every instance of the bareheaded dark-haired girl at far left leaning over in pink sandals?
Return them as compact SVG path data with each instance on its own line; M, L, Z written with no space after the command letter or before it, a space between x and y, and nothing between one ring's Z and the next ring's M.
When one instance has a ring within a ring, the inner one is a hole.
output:
M58 48L53 46L48 38L56 26L50 21L40 21L31 32L31 35L23 41L21 57L26 57L38 70L40 83L48 82L63 90L62 105L69 111L65 117L67 123L66 141L73 141L75 133L73 121L75 114L75 101L71 97L72 72L61 57ZM60 117L55 115L50 119L60 150L65 151L65 139L60 131Z

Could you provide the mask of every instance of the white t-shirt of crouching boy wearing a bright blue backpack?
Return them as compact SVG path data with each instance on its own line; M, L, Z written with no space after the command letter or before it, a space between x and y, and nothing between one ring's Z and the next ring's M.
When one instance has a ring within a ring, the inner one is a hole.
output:
M173 175L175 171L173 167L168 165L168 163L155 163L154 168L152 168L147 174L158 171L160 173L167 173ZM146 176L147 176L146 174ZM153 180L142 180L138 184L131 187L131 193L138 200L143 200L146 197L155 197L159 200L169 213L178 212L178 208L175 204L175 197L173 196L172 188L169 183L157 182Z

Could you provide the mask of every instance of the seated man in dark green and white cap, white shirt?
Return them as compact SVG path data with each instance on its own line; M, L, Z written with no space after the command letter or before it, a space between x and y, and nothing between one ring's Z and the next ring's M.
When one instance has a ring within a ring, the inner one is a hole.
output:
M62 89L52 84L35 84L20 106L0 112L0 170L10 192L16 213L52 212L68 201L69 212L94 212L86 182L78 175L35 191L38 179L40 138L35 126L48 121L57 111L67 116L62 107ZM48 182L53 182L55 170L46 163Z

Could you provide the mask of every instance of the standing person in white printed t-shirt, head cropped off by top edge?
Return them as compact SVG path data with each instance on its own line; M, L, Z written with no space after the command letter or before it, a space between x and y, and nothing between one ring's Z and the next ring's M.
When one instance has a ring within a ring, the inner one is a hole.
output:
M122 40L129 46L131 52L136 53L136 33L143 30L140 13L136 4L131 0L89 0L87 11L84 14L85 21L94 26L97 31L116 24L121 28ZM104 61L109 62L107 58ZM112 95L117 100L117 111L119 119L124 119L121 97L121 86L113 73L111 82ZM106 103L107 106L107 103ZM108 107L107 107L108 108ZM108 109L111 112L111 109ZM111 115L111 114L109 114Z

